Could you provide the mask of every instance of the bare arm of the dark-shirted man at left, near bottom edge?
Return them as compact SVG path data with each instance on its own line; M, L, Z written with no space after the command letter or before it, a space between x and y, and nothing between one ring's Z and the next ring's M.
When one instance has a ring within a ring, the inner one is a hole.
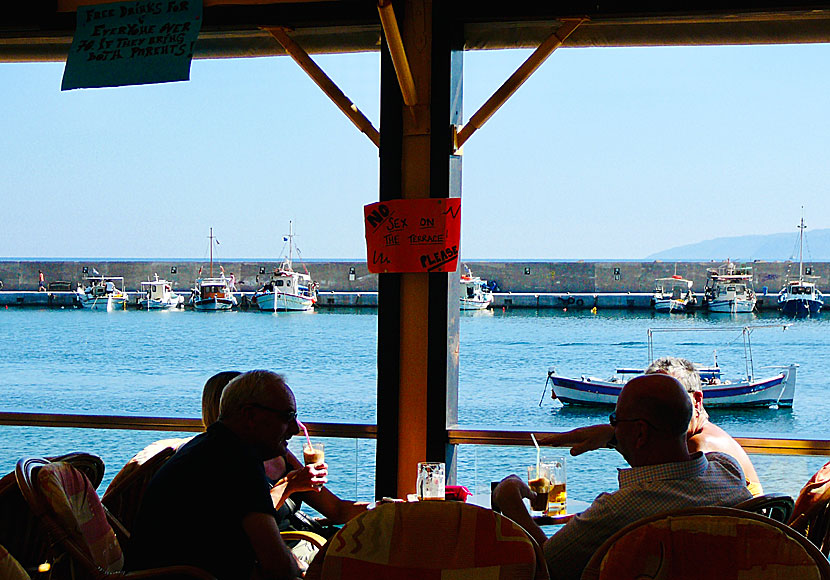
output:
M294 580L302 577L297 561L280 537L277 521L270 514L251 512L242 518L242 528L258 562L257 580Z

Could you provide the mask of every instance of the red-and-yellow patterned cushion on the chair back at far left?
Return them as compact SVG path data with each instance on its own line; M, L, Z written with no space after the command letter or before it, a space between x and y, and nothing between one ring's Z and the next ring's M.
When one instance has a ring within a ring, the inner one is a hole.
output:
M124 555L89 480L67 463L50 463L37 472L38 486L55 518L92 560L108 572L124 565Z

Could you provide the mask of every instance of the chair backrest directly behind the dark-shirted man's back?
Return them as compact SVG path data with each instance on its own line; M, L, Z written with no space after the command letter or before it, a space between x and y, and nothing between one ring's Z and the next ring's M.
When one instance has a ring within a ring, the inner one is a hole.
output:
M166 439L153 443L130 459L107 486L101 499L111 518L117 520L116 531L121 531L124 542L133 531L141 498L150 480L168 459L173 457L179 445L187 439ZM125 546L125 549L128 549Z

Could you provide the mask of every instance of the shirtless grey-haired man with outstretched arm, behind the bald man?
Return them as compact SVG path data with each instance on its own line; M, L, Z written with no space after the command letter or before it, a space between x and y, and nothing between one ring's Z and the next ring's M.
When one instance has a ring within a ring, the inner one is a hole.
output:
M729 433L709 421L709 414L703 408L703 388L700 385L700 374L694 364L684 358L666 356L657 359L646 369L646 374L665 373L680 381L694 408L692 420L689 422L689 430L686 434L686 443L689 452L720 451L731 455L741 464L744 470L746 483L752 495L764 493L761 481L755 472L755 467L743 447L735 441ZM553 447L571 446L571 455L579 455L586 451L608 447L614 436L614 428L610 425L592 425L591 427L580 427L567 433L557 433L544 439L539 443Z

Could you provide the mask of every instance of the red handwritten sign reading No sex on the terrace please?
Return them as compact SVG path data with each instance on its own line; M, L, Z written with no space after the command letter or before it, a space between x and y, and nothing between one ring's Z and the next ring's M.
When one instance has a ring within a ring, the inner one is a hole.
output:
M461 200L396 199L363 207L366 262L373 274L455 272Z

